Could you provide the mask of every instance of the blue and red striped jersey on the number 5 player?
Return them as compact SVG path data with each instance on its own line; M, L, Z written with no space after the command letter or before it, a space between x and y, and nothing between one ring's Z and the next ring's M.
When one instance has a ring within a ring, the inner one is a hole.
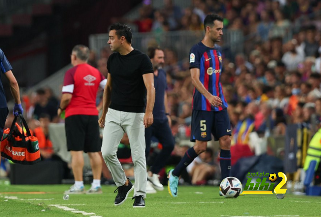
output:
M220 82L222 73L222 54L220 47L206 47L202 42L194 45L190 50L190 69L200 69L200 81L213 96L221 98L223 104L220 107L214 107L210 102L196 89L193 91L193 110L203 111L221 111L227 108L227 102L224 98L223 88Z

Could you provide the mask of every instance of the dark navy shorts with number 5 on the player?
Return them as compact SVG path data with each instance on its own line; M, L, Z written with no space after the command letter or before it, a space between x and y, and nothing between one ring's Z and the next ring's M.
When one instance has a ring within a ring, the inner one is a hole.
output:
M213 134L215 141L222 136L232 135L230 118L227 109L221 111L192 111L191 142L211 141Z

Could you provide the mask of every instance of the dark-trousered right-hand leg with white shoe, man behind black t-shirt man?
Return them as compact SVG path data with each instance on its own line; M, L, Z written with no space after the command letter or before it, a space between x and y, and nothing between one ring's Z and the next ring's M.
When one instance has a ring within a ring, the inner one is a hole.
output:
M156 190L163 190L164 187L159 181L158 173L165 166L167 159L174 149L174 138L168 121L165 120L156 125L155 136L162 144L162 150L155 159L148 172L147 179L152 183Z

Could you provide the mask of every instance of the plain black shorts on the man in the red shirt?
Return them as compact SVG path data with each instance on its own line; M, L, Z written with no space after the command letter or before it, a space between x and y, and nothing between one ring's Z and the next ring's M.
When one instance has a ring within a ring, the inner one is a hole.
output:
M99 152L98 116L72 115L65 119L65 130L68 151Z

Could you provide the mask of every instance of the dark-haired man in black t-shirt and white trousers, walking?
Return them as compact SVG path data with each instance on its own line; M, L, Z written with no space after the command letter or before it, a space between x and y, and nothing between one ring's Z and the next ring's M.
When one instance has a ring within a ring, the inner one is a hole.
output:
M108 44L112 51L107 62L108 78L103 96L103 112L99 119L104 127L101 152L117 185L114 204L127 199L133 184L121 167L116 152L126 132L130 142L135 173L135 202L133 207L145 207L146 157L145 127L153 123L155 88L153 68L149 57L131 47L132 33L124 24L113 24ZM147 102L146 102L147 95ZM147 105L146 105L147 104Z

